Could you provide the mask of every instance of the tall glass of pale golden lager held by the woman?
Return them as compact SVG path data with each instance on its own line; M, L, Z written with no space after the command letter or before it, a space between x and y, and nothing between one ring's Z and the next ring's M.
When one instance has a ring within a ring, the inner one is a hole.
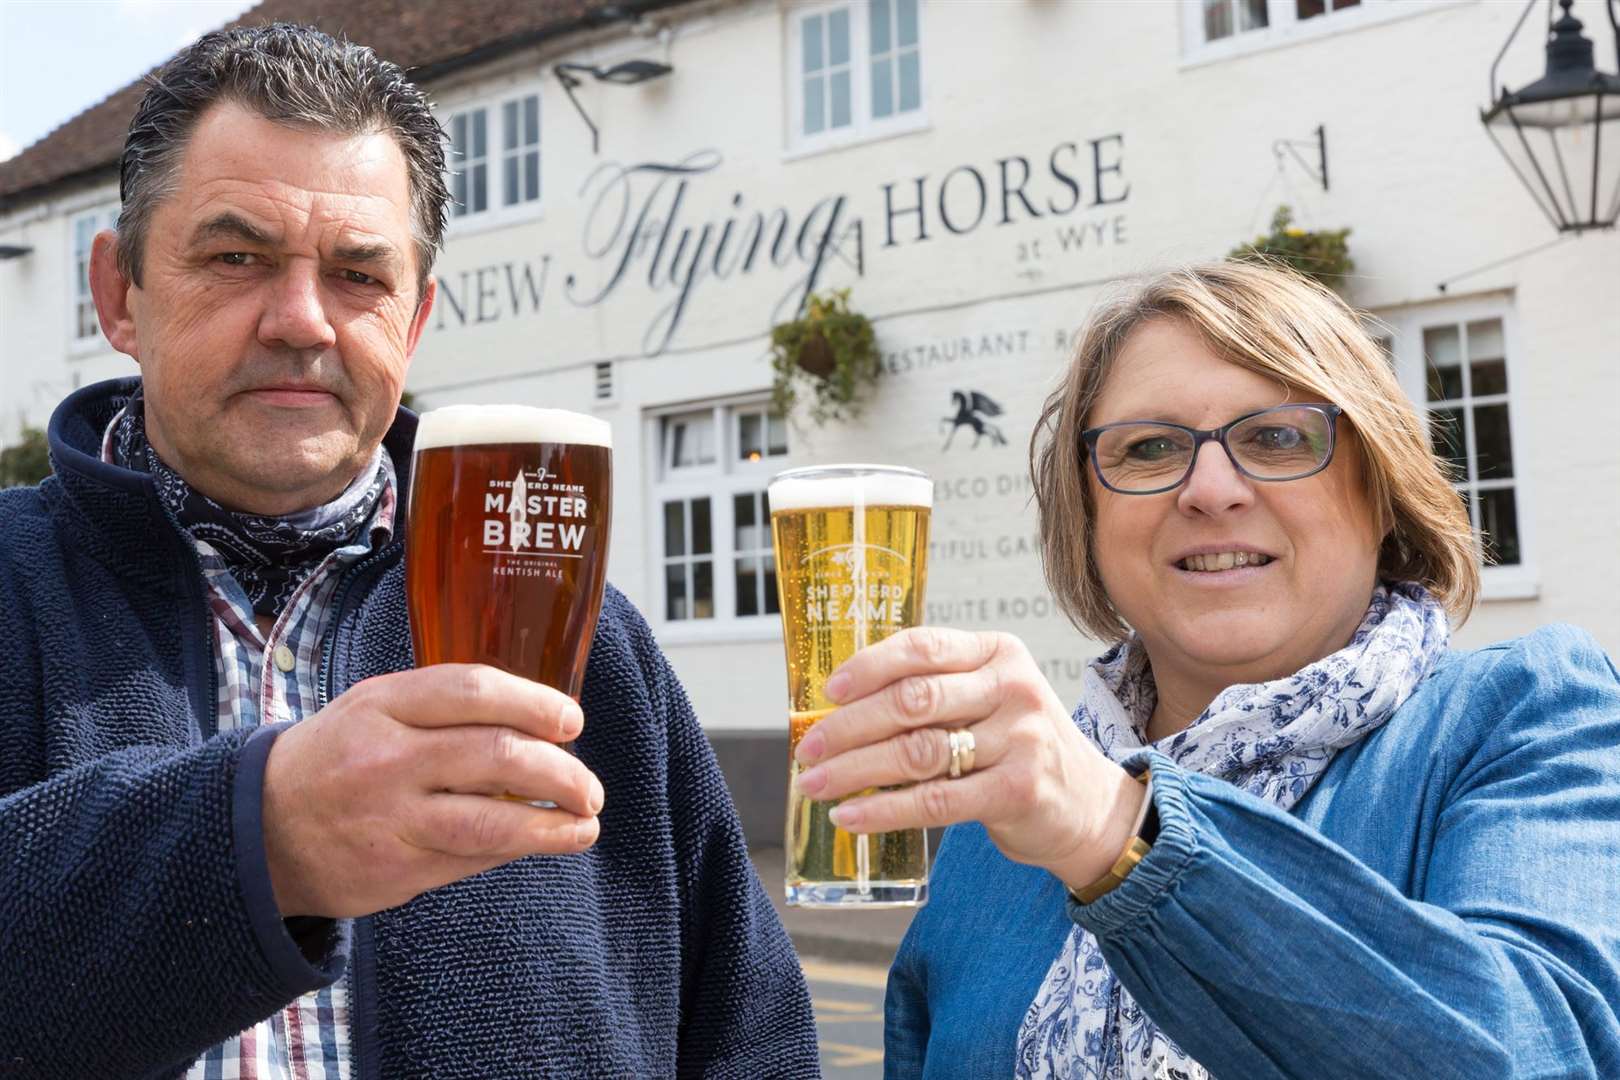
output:
M779 473L770 486L787 646L789 755L833 711L823 687L857 649L922 622L933 481L881 465ZM787 902L915 907L928 899L923 829L854 836L799 792L789 758Z

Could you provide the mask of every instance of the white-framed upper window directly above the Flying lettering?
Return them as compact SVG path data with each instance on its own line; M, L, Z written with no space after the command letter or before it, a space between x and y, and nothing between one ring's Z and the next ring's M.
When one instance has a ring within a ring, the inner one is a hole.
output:
M920 6L922 0L849 0L791 13L795 147L922 126Z

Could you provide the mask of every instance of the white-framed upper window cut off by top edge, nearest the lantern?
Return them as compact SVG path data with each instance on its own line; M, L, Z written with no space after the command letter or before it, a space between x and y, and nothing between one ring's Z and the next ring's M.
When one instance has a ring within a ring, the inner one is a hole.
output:
M1181 0L1187 60L1230 57L1349 26L1426 11L1445 0Z

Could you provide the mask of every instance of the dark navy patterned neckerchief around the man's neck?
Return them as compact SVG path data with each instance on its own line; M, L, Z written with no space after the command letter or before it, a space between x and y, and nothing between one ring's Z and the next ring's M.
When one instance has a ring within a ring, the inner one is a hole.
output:
M112 463L157 481L157 497L193 539L219 552L258 615L277 615L298 585L329 554L350 544L371 520L387 476L379 445L369 468L343 492L313 510L284 518L237 513L219 505L172 470L146 439L146 410L138 389L110 431Z

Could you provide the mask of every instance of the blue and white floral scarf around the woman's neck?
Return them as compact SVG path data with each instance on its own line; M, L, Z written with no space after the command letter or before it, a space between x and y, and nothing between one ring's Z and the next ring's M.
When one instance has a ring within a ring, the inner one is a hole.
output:
M1192 772L1290 810L1340 748L1375 730L1445 651L1445 610L1418 585L1380 585L1338 653L1268 683L1228 687L1191 727L1152 743ZM1074 722L1113 761L1142 750L1157 690L1131 638L1085 672ZM1207 1080L1119 986L1076 926L1017 1033L1016 1080Z

